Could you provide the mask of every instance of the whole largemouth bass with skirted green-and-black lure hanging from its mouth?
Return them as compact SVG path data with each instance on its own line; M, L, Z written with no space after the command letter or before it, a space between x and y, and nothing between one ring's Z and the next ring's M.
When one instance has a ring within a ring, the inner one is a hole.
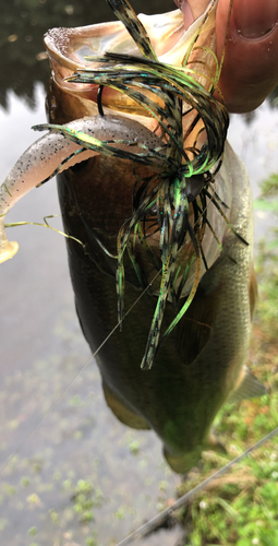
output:
M223 451L211 434L222 404L265 392L244 367L256 299L250 182L213 98L217 1L186 31L179 10L136 19L128 2L109 3L126 28L45 37L52 127L38 128L49 133L0 189L0 260L17 250L5 238L9 209L63 171L70 271L92 352L122 322L97 354L106 400L122 423L153 428L184 473L203 450Z

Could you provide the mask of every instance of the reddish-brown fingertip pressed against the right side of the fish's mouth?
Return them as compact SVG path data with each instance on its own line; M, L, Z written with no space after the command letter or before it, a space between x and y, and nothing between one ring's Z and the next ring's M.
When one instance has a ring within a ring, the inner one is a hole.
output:
M246 38L242 35L242 28L238 28L239 17L234 16L234 8L238 10L239 3L234 0L226 40L229 7L230 0L219 0L216 16L219 60L225 48L219 87L229 111L246 112L257 108L278 83L278 24L258 38Z

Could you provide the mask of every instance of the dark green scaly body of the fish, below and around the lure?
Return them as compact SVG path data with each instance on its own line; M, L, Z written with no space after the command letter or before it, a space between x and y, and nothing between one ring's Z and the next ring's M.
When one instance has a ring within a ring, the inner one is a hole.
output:
M230 152L230 154L232 154ZM237 173L235 173L237 174ZM109 251L130 215L133 187L126 162L101 156L82 163L59 177L59 198L65 232L87 246L68 241L69 264L76 310L94 353L117 324L114 263L95 241ZM245 183L238 228L251 236L251 199ZM108 199L109 195L109 199ZM83 219L81 219L81 215ZM235 219L233 213L232 221ZM85 223L84 223L85 218ZM166 340L153 369L140 367L157 297L145 294L97 356L107 401L116 415L135 428L153 428L161 438L166 456L177 472L186 472L202 450L221 447L210 436L211 423L234 388L245 356L250 325L252 258L249 247L227 235L226 250L204 275L188 312ZM133 268L125 263L125 308L140 295ZM173 320L167 304L165 328Z

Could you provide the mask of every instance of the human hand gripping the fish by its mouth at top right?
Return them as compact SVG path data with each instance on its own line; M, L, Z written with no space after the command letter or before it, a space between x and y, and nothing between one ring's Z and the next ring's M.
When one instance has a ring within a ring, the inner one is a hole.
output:
M185 28L210 0L174 0ZM220 60L230 0L219 0L216 15ZM254 110L278 84L278 0L233 0L219 87L230 112Z

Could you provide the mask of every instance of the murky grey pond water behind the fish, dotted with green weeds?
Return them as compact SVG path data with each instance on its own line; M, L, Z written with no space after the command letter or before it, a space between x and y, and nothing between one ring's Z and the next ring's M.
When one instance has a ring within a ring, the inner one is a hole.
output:
M62 5L56 24L77 9ZM27 11L22 20L28 20L28 2L21 9ZM45 119L41 83L32 95L26 92L34 110L7 84L3 87L9 109L0 110L2 178L36 138L31 127ZM19 82L11 87L17 93ZM258 182L278 168L277 124L278 112L269 104L249 124L241 117L231 119L230 142L247 166L254 195ZM16 204L9 222L43 223L56 214L59 205L50 181ZM256 238L266 219L256 213ZM60 218L49 223L61 228ZM165 463L154 432L128 429L106 406L98 369L75 316L63 237L45 227L12 229L20 251L0 272L0 543L74 546L93 545L95 539L98 546L112 545L170 502L180 478ZM161 531L147 544L170 546L178 535L178 529Z

